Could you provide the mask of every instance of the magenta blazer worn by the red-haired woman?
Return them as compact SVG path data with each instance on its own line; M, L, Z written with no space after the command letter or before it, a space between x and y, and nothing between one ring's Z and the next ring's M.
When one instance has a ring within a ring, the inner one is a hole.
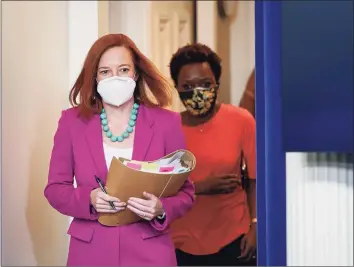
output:
M135 131L134 160L156 160L185 148L177 113L141 105ZM68 230L71 238L67 265L176 265L169 224L192 207L195 200L192 183L188 180L176 196L161 199L166 212L164 224L142 221L105 227L90 209L90 192L98 187L94 175L105 182L107 167L99 115L83 120L77 108L63 111L54 137L44 194L53 208L74 217ZM77 188L73 187L74 176Z

